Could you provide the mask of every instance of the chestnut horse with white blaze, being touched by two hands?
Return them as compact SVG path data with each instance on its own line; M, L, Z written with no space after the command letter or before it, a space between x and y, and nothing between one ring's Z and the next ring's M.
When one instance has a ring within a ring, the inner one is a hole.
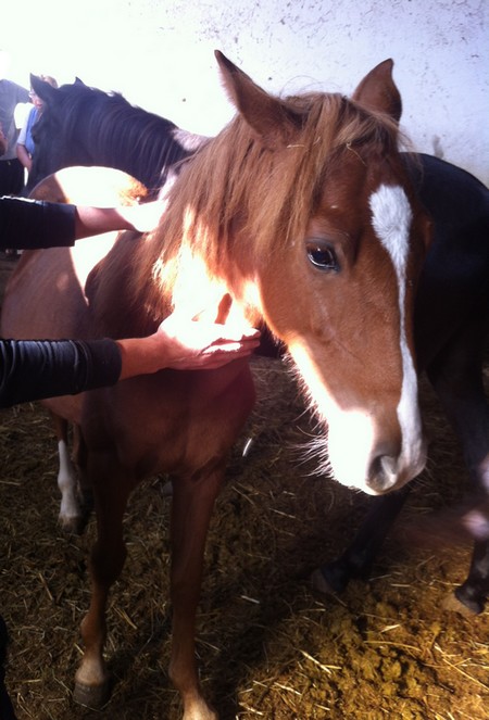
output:
M25 253L7 290L2 331L142 336L172 308L265 323L316 413L319 465L373 494L401 488L426 460L412 316L430 222L398 150L392 63L374 68L352 99L279 99L216 56L238 112L183 166L160 227L139 242L121 235L85 286L70 251ZM47 401L78 427L77 459L98 521L80 702L98 705L106 694L105 607L124 565L128 495L145 477L168 472L170 673L185 720L217 717L198 680L196 610L212 507L253 402L247 361Z

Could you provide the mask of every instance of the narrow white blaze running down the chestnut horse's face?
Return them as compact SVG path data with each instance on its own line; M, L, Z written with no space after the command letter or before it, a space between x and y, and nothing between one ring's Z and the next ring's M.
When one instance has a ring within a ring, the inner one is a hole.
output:
M371 197L372 225L389 253L399 288L400 342L402 354L402 392L398 405L398 419L402 431L402 466L418 463L424 466L423 432L417 405L417 376L405 334L405 285L409 237L412 211L404 190L381 185Z

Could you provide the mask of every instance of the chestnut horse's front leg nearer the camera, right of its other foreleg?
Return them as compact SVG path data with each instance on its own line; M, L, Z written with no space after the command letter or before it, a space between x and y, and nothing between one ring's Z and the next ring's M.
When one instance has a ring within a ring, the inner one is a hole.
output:
M184 720L216 720L202 696L196 662L196 612L205 539L224 464L212 472L174 480L172 511L173 637L170 675L184 704Z

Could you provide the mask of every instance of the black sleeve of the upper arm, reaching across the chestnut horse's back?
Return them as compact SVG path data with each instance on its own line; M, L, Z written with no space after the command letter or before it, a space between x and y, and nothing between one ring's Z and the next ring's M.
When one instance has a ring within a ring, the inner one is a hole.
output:
M0 198L0 248L34 250L75 242L75 205Z

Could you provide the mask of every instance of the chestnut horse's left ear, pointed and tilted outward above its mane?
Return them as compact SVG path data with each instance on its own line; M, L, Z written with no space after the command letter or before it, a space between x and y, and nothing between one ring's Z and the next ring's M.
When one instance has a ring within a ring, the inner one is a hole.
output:
M229 100L261 140L273 147L290 142L301 125L300 115L255 85L220 50L215 51L215 56Z

